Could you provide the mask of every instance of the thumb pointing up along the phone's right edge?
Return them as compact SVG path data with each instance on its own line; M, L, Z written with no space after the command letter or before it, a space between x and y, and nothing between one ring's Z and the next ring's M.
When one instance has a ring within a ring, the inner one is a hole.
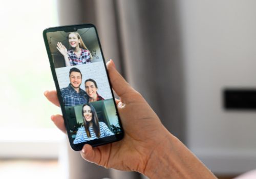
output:
M122 98L123 95L126 93L135 92L135 90L130 86L130 84L127 83L125 79L118 73L118 71L115 68L113 60L110 60L108 61L108 63L106 63L106 68L108 69L110 75L112 87L120 98Z

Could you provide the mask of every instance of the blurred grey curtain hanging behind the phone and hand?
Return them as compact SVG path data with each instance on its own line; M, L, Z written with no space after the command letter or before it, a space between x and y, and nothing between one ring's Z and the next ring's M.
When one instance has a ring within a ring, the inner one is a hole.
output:
M96 25L105 60L114 60L118 71L144 96L165 127L185 142L178 1L59 0L57 7L60 25ZM144 177L96 166L71 149L69 173L70 178Z

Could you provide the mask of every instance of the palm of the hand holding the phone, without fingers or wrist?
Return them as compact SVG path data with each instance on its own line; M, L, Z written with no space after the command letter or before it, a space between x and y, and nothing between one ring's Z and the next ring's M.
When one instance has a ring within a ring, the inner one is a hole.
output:
M143 162L147 161L154 150L153 146L162 138L152 135L152 131L158 126L162 127L162 124L139 94L134 97L130 95L129 98L125 106L118 107L125 132L124 139L96 147L101 155L95 162L107 168L142 172L145 167Z

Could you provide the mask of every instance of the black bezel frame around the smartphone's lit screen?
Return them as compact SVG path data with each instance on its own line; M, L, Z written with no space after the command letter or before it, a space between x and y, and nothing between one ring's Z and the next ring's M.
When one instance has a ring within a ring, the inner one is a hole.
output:
M69 125L68 125L68 119L66 117L65 106L62 102L60 102L60 108L61 108L63 119L64 119L64 122L65 122L65 127L66 127L66 130L67 130L67 135L68 135L68 138L69 138L70 146L75 151L79 151L79 150L82 149L84 144L90 144L93 147L96 147L96 146L100 146L100 145L104 145L104 144L119 141L123 138L124 131L123 131L123 128L122 128L121 119L120 119L120 116L119 116L119 113L118 113L118 110L117 110L117 106L116 106L116 103L115 103L115 97L114 97L114 93L113 93L109 73L108 73L108 70L106 69L105 58L104 58L102 48L101 48L101 44L100 44L100 41L99 41L98 32L97 32L96 27L93 24L79 24L79 25L51 27L51 28L47 28L43 31L43 37L44 37L44 41L45 41L45 46L46 46L46 50L47 50L47 54L48 54L48 59L49 59L49 62L50 62L50 68L51 68L54 84L55 84L55 87L56 87L58 99L59 99L59 101L62 101L60 87L59 87L59 84L58 84L57 75L56 75L56 72L55 72L54 63L53 63L53 59L52 59L52 55L51 55L51 51L50 51L50 47L49 47L49 42L48 42L48 39L47 39L47 33L48 32L57 32L57 31L71 32L72 30L74 31L74 28L76 28L76 29L94 28L95 29L97 40L98 40L98 43L99 43L100 52L101 52L102 59L103 59L103 62L104 62L106 76L108 77L108 80L109 80L109 85L110 85L110 88L111 88L111 94L112 94L114 104L115 104L115 109L116 109L116 113L117 113L117 117L118 117L118 122L119 122L119 125L121 127L121 133L117 133L113 136L99 138L99 139L95 139L95 140L91 140L91 141L87 141L87 142L83 142L83 143L79 143L79 144L73 144L73 139L71 137L71 132L70 132L70 128L69 128Z

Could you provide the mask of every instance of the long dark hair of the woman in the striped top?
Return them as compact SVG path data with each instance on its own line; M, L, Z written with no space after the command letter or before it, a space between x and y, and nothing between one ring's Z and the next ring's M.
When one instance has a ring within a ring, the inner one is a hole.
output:
M84 119L84 116L83 116L83 107L84 106L89 106L91 107L91 111L92 111L92 120L90 122L88 122L86 119ZM84 123L84 129L86 129L86 134L87 136L90 138L91 137L91 133L90 133L90 130L89 130L89 126L90 126L90 123L93 123L93 130L95 132L95 135L97 137L100 137L100 129L99 129L99 118L97 116L97 113L96 113L96 110L95 108L93 107L92 104L90 103L86 103L86 104L83 104L82 106L82 119L83 119L83 123Z

